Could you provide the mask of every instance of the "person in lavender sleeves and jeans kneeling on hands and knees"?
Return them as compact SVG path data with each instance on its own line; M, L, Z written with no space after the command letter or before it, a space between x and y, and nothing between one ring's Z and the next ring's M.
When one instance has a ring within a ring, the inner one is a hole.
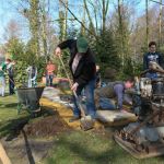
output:
M131 99L125 94L125 91L132 89L133 84L133 78L129 78L125 82L110 82L104 87L96 89L94 93L96 108L125 112L122 108L124 101L132 105ZM116 104L112 99L116 99Z

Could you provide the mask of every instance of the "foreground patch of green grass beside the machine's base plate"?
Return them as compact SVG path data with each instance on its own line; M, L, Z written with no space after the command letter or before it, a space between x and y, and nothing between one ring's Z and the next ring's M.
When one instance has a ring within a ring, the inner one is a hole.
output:
M164 164L164 156L136 160L112 138L93 132L72 131L56 139L44 164Z

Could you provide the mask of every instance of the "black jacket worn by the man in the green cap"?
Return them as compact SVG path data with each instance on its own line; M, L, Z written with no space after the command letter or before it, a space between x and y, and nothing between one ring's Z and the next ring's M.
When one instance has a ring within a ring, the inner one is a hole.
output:
M89 48L87 51L83 55L80 59L79 65L77 67L75 72L72 72L72 62L78 52L77 50L77 40L75 39L68 39L62 42L58 45L61 49L69 48L70 49L70 70L73 77L73 81L78 82L80 86L84 86L87 84L89 81L95 78L95 58L91 49Z

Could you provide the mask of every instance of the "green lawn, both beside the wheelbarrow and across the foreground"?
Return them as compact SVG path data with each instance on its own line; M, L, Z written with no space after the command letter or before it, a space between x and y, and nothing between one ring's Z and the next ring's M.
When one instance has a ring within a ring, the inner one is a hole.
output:
M17 115L16 96L0 97L0 136L11 133L14 125L28 118L23 112ZM37 120L37 119L36 119ZM39 119L38 119L39 120ZM42 164L164 164L164 156L136 160L114 140L112 130L66 130L54 136L52 149ZM12 161L12 159L11 159Z

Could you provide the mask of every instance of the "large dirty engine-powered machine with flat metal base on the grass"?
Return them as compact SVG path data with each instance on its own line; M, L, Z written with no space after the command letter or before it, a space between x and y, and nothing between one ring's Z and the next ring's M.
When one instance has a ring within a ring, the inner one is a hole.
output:
M115 139L126 150L131 147L145 156L159 151L164 154L164 78L141 78L136 86L133 113L138 121L117 131Z

